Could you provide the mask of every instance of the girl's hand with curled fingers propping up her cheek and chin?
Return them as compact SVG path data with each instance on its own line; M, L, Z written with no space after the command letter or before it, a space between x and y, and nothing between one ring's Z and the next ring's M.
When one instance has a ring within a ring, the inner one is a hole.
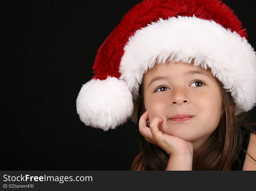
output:
M146 111L139 120L139 131L148 142L157 145L168 155L183 154L184 152L193 153L192 142L159 131L158 125L163 122L161 117L153 118L149 127L147 127L148 118L148 111Z

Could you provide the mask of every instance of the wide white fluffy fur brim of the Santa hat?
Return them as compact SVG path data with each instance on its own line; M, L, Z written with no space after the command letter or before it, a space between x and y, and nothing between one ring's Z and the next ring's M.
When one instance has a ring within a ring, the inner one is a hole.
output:
M238 33L214 21L178 16L159 19L137 30L124 47L119 72L134 97L143 74L154 63L182 61L211 68L237 106L236 115L256 103L256 57Z

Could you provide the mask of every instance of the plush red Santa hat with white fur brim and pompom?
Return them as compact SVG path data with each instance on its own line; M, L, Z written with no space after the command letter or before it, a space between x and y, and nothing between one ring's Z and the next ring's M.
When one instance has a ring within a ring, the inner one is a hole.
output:
M255 106L255 51L233 10L218 0L144 0L99 47L94 76L76 101L81 121L104 131L136 123L134 103L147 69L192 60L230 91L235 115Z

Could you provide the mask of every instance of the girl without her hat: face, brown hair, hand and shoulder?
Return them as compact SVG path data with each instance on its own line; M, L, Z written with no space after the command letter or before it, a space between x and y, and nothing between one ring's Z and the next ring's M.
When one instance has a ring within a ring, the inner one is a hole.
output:
M142 152L131 170L256 170L255 129L248 126L254 124L245 113L234 117L232 97L210 69L156 64L143 75L139 94ZM171 119L176 114L193 117Z

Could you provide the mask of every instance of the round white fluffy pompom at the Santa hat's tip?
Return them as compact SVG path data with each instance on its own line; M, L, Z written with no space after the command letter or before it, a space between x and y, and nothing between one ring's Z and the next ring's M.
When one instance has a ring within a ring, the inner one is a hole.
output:
M115 77L92 79L84 84L77 97L77 113L87 126L114 129L129 119L133 100L127 84Z

